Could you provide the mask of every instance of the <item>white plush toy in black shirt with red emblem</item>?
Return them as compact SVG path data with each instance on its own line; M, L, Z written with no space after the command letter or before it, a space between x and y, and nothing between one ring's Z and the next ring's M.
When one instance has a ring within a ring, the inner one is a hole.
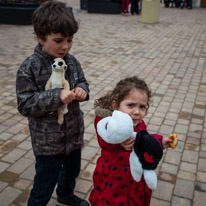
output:
M97 132L104 141L120 144L129 137L135 137L130 154L130 170L135 181L141 180L142 174L151 190L157 187L155 169L162 158L163 151L159 142L147 131L134 132L131 117L120 111L113 111L112 116L103 118L97 124Z

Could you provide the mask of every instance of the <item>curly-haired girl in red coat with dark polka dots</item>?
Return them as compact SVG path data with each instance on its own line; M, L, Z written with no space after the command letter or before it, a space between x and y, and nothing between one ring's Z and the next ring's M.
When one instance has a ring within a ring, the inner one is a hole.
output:
M135 132L146 130L143 118L150 98L151 91L143 80L135 76L121 80L112 92L95 101L95 128L102 118L111 116L113 110L119 110L130 115ZM135 138L130 137L121 144L108 144L98 133L97 138L102 152L93 174L94 188L89 197L91 205L149 205L152 191L144 177L136 182L130 172L129 156ZM172 142L169 138L162 140L162 137L158 141L164 148L170 147Z

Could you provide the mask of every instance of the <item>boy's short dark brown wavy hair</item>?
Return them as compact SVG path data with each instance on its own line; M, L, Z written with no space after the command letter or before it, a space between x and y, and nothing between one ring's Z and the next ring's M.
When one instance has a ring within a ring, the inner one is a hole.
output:
M72 9L58 1L42 3L32 15L32 24L34 33L42 40L46 40L46 36L51 33L73 37L79 28Z

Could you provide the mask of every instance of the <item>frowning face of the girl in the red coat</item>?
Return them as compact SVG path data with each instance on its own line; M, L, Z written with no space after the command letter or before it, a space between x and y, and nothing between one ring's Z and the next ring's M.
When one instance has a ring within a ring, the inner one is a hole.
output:
M147 113L148 96L140 89L132 89L130 93L121 101L119 108L121 112L130 115L133 125L139 124Z

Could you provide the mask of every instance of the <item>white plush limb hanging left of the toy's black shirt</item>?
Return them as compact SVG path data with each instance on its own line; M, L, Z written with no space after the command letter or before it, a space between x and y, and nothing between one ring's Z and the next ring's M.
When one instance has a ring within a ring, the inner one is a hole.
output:
M132 173L132 177L134 178L135 181L139 182L142 177L142 164L139 161L139 158L134 152L134 150L132 150L130 154L129 162L130 162L130 171Z

